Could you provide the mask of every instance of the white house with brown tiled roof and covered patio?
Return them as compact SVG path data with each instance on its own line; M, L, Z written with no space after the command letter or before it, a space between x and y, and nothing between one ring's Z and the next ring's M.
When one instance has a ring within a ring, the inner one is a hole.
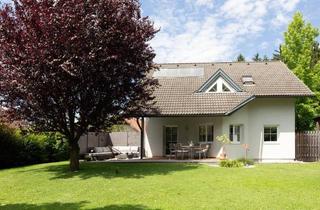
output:
M295 158L295 100L310 89L282 62L159 64L152 76L157 113L143 116L146 157L163 157L170 143L208 143L218 157L226 134L229 158Z

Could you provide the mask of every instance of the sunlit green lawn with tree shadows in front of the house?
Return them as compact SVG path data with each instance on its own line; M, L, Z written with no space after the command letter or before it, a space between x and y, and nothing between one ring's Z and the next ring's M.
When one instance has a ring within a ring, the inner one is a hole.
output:
M320 164L67 162L0 170L3 209L319 209Z

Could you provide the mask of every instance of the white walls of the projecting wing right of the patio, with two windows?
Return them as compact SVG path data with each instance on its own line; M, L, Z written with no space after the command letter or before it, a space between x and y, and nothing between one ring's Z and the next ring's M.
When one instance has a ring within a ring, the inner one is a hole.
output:
M262 161L289 161L295 158L295 100L260 98L223 118L223 133L231 124L243 126L240 144L227 145L230 158L244 157L242 144L249 145L248 156ZM264 126L277 126L278 141L264 142Z

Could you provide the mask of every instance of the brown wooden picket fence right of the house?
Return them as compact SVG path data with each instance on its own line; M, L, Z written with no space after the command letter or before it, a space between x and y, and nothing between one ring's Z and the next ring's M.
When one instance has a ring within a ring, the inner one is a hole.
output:
M296 132L296 160L320 160L320 131Z

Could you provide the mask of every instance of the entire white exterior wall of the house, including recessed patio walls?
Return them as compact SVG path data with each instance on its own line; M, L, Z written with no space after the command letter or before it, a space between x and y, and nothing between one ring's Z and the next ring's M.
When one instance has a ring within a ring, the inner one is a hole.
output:
M241 141L226 146L229 158L244 157L242 144L249 145L248 157L262 161L290 161L295 157L295 100L292 98L259 98L226 117L160 117L146 119L145 148L147 157L163 156L164 126L178 126L178 142L187 144L199 139L199 125L214 125L214 139L218 135L229 136L230 125L241 125ZM265 125L276 125L277 142L264 142ZM209 156L218 157L220 143L214 141Z

